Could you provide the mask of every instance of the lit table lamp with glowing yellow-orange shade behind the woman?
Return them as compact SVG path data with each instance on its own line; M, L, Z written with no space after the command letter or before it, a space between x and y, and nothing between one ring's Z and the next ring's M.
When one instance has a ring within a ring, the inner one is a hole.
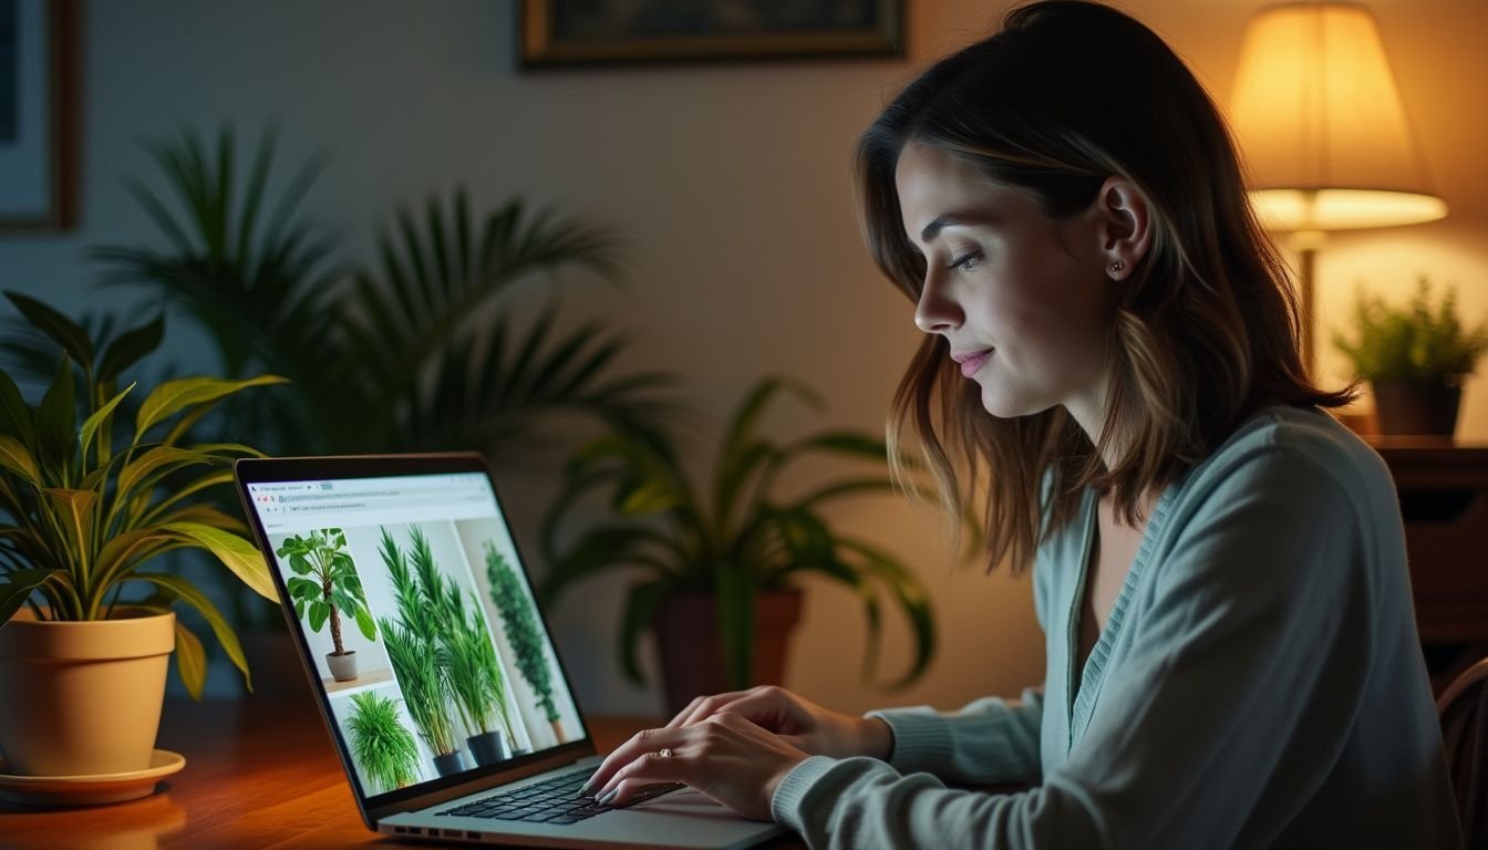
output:
M1312 266L1327 231L1431 222L1436 196L1373 15L1286 3L1245 25L1231 125L1260 223L1298 252L1302 360L1315 360Z

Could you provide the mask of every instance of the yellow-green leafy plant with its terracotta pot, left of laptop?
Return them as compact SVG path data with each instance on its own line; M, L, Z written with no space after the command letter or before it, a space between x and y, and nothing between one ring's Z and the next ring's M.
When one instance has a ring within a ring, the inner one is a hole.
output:
M129 426L119 375L155 350L161 319L106 344L45 304L7 292L25 320L64 351L39 405L0 372L0 750L7 770L94 776L149 767L174 649L192 697L205 682L201 639L176 619L195 609L248 677L237 636L186 578L147 570L158 555L204 549L243 584L274 584L243 523L202 502L254 450L186 444L225 397L278 383L182 378L146 394ZM126 601L125 587L153 595Z

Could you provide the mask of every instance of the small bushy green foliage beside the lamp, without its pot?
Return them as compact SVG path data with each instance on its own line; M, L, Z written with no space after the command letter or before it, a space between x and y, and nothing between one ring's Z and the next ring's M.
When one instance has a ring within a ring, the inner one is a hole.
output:
M1451 384L1470 375L1488 351L1488 326L1469 330L1457 316L1457 293L1448 287L1439 302L1421 278L1415 295L1391 307L1378 295L1354 298L1353 339L1333 333L1333 345L1366 381Z

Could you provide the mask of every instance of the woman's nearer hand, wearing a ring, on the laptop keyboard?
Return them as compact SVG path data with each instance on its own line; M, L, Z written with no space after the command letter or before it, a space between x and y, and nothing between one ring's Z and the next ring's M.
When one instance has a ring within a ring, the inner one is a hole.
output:
M719 712L701 723L638 732L604 759L585 792L625 805L647 785L682 782L744 817L771 820L775 789L806 758L780 735Z

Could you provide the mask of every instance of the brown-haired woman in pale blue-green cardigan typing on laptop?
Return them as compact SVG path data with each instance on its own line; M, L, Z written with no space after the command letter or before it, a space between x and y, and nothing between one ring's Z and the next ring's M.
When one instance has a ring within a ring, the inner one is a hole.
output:
M1320 408L1223 121L1150 30L1013 10L863 134L878 265L927 333L890 435L992 564L1042 691L850 718L695 701L591 787L686 782L812 847L1454 847L1388 470ZM1021 793L946 782L1030 783Z

